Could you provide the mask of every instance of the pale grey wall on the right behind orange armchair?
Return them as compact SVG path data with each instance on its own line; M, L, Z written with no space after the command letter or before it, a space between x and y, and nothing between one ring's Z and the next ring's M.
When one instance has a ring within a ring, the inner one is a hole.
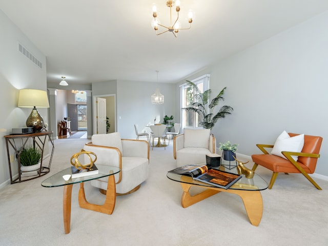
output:
M218 143L252 155L283 130L322 136L315 173L328 176L327 23L324 12L188 78L210 73L213 96L227 86L224 105L234 111L212 129Z

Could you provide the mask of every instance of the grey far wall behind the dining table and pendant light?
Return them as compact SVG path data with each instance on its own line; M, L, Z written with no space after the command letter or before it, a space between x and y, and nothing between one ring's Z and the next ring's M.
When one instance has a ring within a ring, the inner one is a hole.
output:
M151 95L159 88L165 103L154 105ZM175 116L175 85L141 81L112 80L92 84L93 96L116 94L116 126L122 138L135 138L134 124L139 131L150 131L146 125L162 122L165 114Z

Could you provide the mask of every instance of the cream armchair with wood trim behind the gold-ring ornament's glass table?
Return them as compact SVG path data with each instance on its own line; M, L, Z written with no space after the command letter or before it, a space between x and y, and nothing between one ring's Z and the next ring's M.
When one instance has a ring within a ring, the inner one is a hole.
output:
M118 132L96 134L84 146L84 150L97 156L96 166L119 167L115 174L116 194L126 195L138 190L148 177L149 144L145 140L121 139ZM91 185L106 194L108 177L91 180Z

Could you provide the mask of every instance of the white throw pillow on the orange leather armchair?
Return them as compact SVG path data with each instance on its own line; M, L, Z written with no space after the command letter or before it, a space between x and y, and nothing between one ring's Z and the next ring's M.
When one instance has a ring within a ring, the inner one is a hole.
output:
M304 134L290 137L286 131L283 131L277 138L271 154L286 157L281 154L281 151L301 152L304 146ZM297 161L298 156L292 155L293 159Z

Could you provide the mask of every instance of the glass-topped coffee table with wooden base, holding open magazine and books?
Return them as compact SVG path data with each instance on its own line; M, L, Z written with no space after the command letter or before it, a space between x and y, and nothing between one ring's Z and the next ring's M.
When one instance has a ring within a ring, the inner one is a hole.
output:
M220 167L219 170L226 171L230 173L236 173L237 170L224 170L224 167ZM210 196L213 196L219 192L227 192L236 194L241 197L245 210L247 212L248 218L253 226L258 226L262 214L263 214L263 200L260 191L268 188L268 183L265 182L259 175L254 174L253 178L246 178L242 175L234 185L232 185L228 190L217 188L207 183L203 183L192 179L191 176L179 175L174 173L167 173L167 177L171 180L180 182L183 193L181 197L181 206L187 208L198 201L204 200ZM191 195L189 190L193 186L201 186L206 188L206 190L196 194Z

